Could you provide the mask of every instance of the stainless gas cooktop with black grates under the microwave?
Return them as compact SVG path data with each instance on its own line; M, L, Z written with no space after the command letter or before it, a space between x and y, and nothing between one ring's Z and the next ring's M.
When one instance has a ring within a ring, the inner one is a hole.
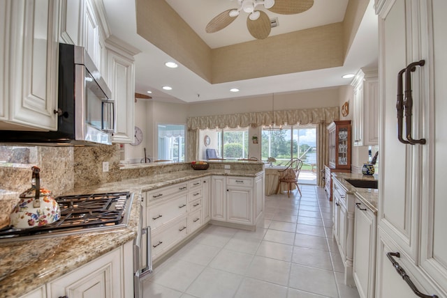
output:
M58 221L27 229L8 226L0 230L0 243L125 227L133 194L129 191L80 194L58 196L55 200L61 209Z

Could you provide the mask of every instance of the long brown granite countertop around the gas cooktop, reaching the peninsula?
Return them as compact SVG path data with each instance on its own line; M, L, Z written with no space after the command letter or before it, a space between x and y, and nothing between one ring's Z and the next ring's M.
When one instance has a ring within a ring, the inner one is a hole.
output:
M0 243L0 296L7 298L24 295L133 240L138 230L142 191L207 175L256 177L261 173L262 171L241 170L177 171L72 189L64 195L131 191L133 204L128 226L103 232Z

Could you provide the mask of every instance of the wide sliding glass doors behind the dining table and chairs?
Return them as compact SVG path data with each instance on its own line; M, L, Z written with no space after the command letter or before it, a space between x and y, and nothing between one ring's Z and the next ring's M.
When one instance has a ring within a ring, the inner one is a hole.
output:
M274 157L277 161L273 164L276 165L284 165L292 157L298 157L304 162L303 169L313 170L316 165L316 127L294 125L282 130L263 130L261 156L263 162Z

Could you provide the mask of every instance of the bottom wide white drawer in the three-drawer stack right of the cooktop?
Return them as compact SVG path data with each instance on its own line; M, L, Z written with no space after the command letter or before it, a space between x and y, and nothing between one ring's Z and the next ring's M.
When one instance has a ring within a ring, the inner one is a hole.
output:
M163 251L170 249L186 237L186 230L187 219L184 217L159 232L152 233L152 258L157 258Z

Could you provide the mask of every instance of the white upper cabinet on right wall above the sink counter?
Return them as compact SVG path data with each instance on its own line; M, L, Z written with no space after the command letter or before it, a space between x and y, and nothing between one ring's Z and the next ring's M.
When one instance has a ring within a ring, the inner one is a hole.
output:
M379 143L379 77L377 68L362 68L351 82L353 97L353 146Z

